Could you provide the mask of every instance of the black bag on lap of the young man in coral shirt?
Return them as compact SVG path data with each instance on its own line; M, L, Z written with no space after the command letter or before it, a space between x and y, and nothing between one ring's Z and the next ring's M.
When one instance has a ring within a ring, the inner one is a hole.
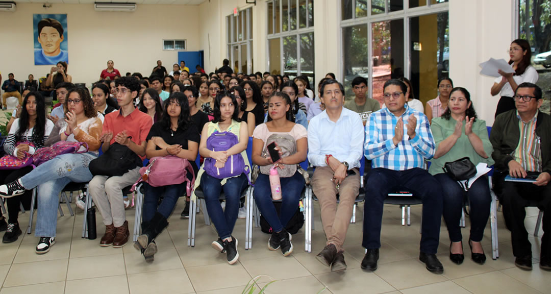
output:
M142 167L142 159L130 148L112 144L107 152L90 161L89 168L92 175L106 175L107 177L120 177L128 170Z

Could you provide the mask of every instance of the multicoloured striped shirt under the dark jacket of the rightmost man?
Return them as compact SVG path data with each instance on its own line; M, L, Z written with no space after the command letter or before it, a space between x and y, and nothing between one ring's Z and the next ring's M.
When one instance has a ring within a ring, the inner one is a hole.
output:
M536 135L538 112L536 111L533 119L527 122L523 122L520 115L518 115L518 111L516 112L520 137L518 138L518 146L512 156L527 172L542 172L541 139Z

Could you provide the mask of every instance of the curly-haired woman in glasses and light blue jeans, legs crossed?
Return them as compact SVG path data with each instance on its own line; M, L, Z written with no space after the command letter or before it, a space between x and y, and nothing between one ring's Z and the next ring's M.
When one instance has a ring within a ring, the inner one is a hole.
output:
M8 194L9 185L14 187L13 194L38 187L35 236L40 237L40 240L36 245L37 254L47 253L56 243L57 209L60 201L58 195L71 182L85 183L92 179L88 164L98 156L101 145L99 138L102 124L88 89L72 89L68 94L67 108L66 119L57 122L46 145L59 141L85 142L88 152L58 155L8 184Z

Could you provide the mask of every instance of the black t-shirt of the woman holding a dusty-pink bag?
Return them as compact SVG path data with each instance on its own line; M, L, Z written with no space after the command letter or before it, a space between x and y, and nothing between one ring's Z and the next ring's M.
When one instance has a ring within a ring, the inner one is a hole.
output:
M182 146L182 149L187 149L188 140L197 143L201 141L201 138L199 137L199 132L197 131L197 127L195 126L195 124L190 124L185 131L182 131L181 129L171 131L164 128L161 125L160 121L153 124L153 126L149 130L146 140L149 141L152 137L161 137L168 145L179 144ZM156 147L156 150L160 149L161 148L159 148L159 146ZM190 161L190 163L193 167L193 170L195 171L195 174L197 174L199 169L197 168L197 164L195 164L195 160Z

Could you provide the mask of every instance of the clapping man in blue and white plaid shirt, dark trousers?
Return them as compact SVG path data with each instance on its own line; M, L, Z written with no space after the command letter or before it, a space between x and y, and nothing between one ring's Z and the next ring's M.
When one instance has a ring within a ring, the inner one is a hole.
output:
M434 155L435 143L429 120L406 104L406 84L397 79L383 87L386 108L369 117L365 125L365 157L372 170L365 184L364 240L367 250L361 268L377 269L381 247L383 200L388 193L410 191L423 201L419 259L426 269L442 273L436 258L442 217L442 188L423 167Z

